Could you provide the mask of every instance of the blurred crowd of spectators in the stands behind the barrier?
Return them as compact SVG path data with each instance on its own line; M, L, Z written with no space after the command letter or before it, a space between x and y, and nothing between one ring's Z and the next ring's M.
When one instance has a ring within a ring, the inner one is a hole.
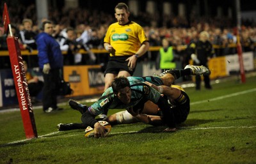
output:
M30 6L20 5L17 8L9 8L13 34L20 38L20 48L36 50L35 36L40 33L36 21L36 8L34 4ZM162 17L162 19L159 19ZM86 8L75 8L70 10L54 10L49 8L49 20L54 22L54 38L61 45L61 50L67 51L65 65L69 64L99 64L108 59L108 54L93 54L92 48L103 49L103 38L109 24L115 22L114 13L104 13L104 11L90 10ZM185 17L167 17L159 13L150 15L148 13L138 13L138 16L131 14L131 20L138 22L145 29L145 33L150 41L150 46L161 46L161 40L166 38L175 47L177 54L186 63L189 54L186 54L186 45L190 41L198 39L201 31L208 31L210 41L214 45L216 56L236 54L237 30L232 24L232 19L227 17L196 18L191 15ZM161 20L161 22L159 22ZM244 22L244 21L243 21ZM254 51L256 43L256 26L253 21L244 22L246 26L241 26L241 44L244 51ZM0 50L7 50L6 34L3 32L3 24L0 27ZM88 56L79 54L79 49L88 51ZM143 59L155 59L154 53L148 52ZM99 57L100 56L100 57Z

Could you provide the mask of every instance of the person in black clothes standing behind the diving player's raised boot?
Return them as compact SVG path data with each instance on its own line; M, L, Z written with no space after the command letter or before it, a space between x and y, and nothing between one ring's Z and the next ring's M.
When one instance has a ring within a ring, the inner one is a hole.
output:
M208 61L213 56L214 50L209 41L209 33L207 33L207 31L202 31L199 40L195 43L191 43L188 48L188 52L191 54L194 65L208 67ZM204 75L204 84L206 89L212 89L209 75ZM196 90L200 90L200 87L201 76L196 75Z

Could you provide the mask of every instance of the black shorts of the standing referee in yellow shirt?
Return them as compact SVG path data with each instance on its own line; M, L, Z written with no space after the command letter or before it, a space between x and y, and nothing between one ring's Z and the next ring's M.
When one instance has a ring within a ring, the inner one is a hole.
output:
M135 71L135 68L132 70L128 67L128 61L125 61L128 57L131 56L109 57L108 65L106 71L104 72L104 75L106 75L106 73L113 73L117 75L119 71L127 71L132 76Z

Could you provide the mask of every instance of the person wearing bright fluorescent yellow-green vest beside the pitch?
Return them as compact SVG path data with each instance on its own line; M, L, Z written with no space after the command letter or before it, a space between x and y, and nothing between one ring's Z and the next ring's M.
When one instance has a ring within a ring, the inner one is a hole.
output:
M157 66L162 71L171 70L176 68L175 54L173 47L169 45L169 41L164 38L162 40L163 47L160 48L159 54L157 56Z

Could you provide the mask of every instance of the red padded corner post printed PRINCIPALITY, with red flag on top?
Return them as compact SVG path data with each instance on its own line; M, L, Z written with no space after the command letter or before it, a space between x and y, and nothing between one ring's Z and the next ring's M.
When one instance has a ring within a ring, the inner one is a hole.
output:
M6 3L4 3L3 24L5 33L10 31L10 36L7 37L6 41L26 138L37 138L35 118L29 96L28 82L26 79L23 60L20 54L19 41L18 38L15 38L12 34L12 27Z

